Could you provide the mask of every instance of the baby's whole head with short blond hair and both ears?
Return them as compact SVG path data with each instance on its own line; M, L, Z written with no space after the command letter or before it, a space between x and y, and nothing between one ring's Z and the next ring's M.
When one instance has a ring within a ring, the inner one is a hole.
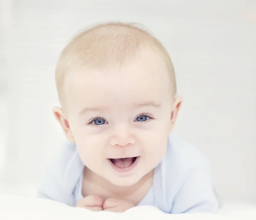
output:
M157 166L181 104L159 41L129 24L94 26L63 50L55 79L55 116L90 171L128 186Z

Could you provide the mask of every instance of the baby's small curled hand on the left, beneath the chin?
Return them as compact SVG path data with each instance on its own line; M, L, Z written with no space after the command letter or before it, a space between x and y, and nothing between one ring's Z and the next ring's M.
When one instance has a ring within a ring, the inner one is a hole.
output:
M102 211L104 200L100 196L91 195L84 197L76 203L76 207L86 208L91 211Z

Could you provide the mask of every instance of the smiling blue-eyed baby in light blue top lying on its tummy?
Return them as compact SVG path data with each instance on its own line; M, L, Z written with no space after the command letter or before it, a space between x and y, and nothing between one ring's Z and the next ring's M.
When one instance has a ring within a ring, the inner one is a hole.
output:
M55 80L68 142L39 197L94 211L218 210L207 160L172 134L182 98L156 38L132 24L94 26L64 48Z

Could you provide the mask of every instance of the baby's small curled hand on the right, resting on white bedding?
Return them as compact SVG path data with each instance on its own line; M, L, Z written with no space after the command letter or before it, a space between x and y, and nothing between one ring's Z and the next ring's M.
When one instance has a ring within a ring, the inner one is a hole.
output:
M112 198L105 200L103 203L103 210L105 211L124 212L132 207L134 207L134 204L131 202Z

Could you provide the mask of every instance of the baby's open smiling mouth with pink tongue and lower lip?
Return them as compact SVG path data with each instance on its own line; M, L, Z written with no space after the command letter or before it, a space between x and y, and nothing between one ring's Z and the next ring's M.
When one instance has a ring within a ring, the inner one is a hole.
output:
M118 172L128 172L131 171L137 164L140 156L126 157L118 159L108 159L110 165Z

